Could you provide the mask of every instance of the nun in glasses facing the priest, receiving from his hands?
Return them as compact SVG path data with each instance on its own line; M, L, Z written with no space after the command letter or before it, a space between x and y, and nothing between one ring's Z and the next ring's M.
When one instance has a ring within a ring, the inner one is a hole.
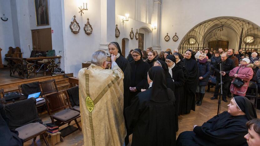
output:
M130 87L130 78L131 78L131 66L129 61L123 57L120 46L117 42L111 42L108 44L108 51L110 54L114 54L116 56L116 63L118 64L118 66L120 67L120 69L123 71L124 73L124 80L123 80L123 84L124 84L124 109L126 107L128 107L131 104L131 101L129 99L130 96L130 91L129 91L129 87ZM125 115L124 115L125 117ZM125 124L126 121L125 121ZM128 131L128 129L127 129ZM128 136L129 136L129 132L126 136L125 139L125 143L126 145L128 144Z

